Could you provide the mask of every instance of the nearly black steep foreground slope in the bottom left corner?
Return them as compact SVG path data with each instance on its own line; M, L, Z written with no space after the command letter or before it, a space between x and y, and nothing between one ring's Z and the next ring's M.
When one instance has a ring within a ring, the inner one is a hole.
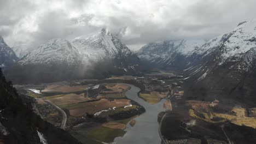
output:
M32 112L0 69L0 142L79 143L66 131L55 128Z

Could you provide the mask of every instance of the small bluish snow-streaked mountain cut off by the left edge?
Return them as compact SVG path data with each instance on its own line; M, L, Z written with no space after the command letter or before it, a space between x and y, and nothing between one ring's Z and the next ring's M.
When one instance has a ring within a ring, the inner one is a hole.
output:
M18 61L15 52L4 42L0 36L0 68L10 67Z

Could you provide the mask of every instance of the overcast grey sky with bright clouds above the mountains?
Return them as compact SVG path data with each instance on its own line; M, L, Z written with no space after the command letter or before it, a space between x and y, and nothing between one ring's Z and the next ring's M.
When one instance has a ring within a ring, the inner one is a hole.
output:
M255 0L0 0L9 46L72 40L108 28L131 49L166 39L211 39L255 19Z

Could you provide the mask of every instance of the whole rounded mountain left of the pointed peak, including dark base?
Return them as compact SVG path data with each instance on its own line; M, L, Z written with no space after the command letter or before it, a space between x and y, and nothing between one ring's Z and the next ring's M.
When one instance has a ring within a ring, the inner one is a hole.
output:
M84 79L90 62L65 39L51 39L22 57L18 64L5 71L15 83L42 83Z

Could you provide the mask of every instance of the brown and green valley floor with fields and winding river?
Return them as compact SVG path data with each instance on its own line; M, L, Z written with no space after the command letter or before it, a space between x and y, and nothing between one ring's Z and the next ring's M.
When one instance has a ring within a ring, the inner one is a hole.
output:
M251 143L241 137L256 134L255 108L189 99L183 84L175 71L154 71L16 88L35 98L38 115L83 143Z

